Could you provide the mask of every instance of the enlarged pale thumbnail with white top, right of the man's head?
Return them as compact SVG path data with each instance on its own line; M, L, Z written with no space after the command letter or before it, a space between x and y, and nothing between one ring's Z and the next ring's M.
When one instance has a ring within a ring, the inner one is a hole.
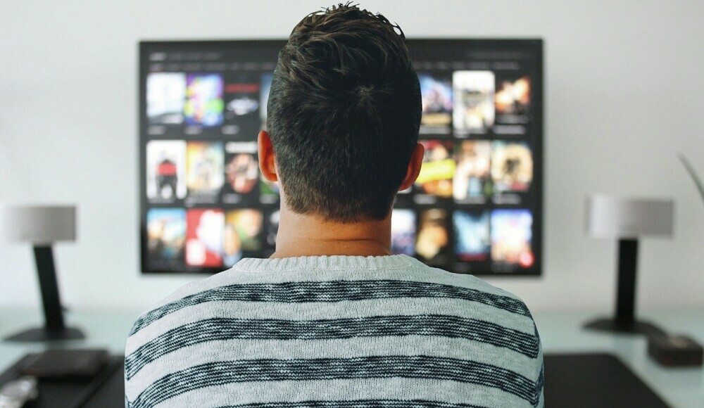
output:
M453 127L459 133L486 133L494 125L494 72L455 71L452 75Z

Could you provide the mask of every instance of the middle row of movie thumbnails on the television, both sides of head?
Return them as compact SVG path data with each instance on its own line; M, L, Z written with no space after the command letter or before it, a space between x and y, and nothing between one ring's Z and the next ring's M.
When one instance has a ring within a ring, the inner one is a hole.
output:
M417 204L506 203L533 181L526 141L423 140L425 155L412 189ZM150 203L274 204L278 187L260 174L255 141L152 140L146 144L146 197ZM513 204L520 204L519 201Z

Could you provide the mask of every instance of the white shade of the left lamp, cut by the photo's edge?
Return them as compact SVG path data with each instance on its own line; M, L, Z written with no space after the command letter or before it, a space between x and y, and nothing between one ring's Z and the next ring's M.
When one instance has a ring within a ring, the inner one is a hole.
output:
M23 205L0 207L0 243L30 242L49 245L75 241L74 205Z

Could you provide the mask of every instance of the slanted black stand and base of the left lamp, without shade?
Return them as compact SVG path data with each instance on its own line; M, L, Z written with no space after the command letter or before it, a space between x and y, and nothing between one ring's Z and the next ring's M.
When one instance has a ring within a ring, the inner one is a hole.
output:
M76 340L85 338L82 331L63 324L61 298L58 296L54 253L51 246L34 246L34 261L37 263L39 288L44 306L44 327L28 329L5 338L8 341Z

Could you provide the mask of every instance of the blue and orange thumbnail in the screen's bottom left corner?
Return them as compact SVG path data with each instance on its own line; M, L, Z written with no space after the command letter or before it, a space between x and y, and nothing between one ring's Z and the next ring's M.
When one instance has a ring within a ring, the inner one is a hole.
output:
M146 212L146 247L150 262L183 262L186 210L152 208Z

